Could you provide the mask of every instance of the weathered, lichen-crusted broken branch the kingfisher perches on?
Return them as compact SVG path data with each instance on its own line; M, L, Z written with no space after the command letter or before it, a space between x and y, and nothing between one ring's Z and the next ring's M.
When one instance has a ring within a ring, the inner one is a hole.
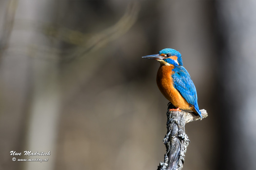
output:
M172 104L168 105L167 115L167 134L163 139L166 147L164 162L160 162L158 170L181 170L183 168L184 157L190 142L185 133L185 124L199 120L200 117L193 113L184 111L169 111ZM200 110L202 117L208 116L206 110Z

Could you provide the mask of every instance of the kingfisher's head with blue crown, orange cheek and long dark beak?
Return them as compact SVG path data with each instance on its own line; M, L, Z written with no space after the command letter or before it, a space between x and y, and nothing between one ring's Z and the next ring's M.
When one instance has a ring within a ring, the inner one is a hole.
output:
M182 66L181 54L174 49L163 49L158 54L147 55L142 58L158 60L161 65Z

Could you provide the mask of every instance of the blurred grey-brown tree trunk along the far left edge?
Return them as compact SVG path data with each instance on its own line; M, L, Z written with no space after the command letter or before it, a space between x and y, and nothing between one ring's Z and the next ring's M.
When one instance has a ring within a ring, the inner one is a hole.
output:
M8 47L18 0L0 1L0 169L20 169L14 164L10 151L21 152L29 79L29 62L24 55L11 56ZM19 75L17 74L19 73ZM10 162L12 164L10 164Z

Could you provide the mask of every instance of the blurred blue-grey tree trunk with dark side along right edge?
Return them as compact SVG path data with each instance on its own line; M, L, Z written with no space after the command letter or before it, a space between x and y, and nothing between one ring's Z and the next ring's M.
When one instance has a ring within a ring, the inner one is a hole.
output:
M256 168L255 9L255 0L217 1L223 170Z

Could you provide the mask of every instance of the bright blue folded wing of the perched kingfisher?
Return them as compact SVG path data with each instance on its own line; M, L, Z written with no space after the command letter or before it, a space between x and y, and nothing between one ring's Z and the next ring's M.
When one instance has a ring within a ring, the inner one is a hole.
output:
M196 109L198 115L202 117L197 104L197 90L188 71L182 66L174 68L173 71L174 74L172 78L174 80L174 87L181 96Z

